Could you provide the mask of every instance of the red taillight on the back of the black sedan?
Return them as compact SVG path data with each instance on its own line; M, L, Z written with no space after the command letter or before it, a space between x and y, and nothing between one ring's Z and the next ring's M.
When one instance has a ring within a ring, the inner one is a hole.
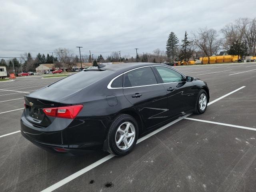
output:
M83 107L83 105L72 105L66 107L44 108L43 112L51 117L74 119Z

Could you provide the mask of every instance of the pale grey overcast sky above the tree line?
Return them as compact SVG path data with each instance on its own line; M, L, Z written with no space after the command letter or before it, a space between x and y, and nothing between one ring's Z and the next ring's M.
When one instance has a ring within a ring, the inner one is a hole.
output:
M134 48L165 50L171 31L181 40L185 30L219 31L255 16L255 0L0 0L0 57L28 51L35 57L58 47L79 54L76 46L81 54L135 56Z

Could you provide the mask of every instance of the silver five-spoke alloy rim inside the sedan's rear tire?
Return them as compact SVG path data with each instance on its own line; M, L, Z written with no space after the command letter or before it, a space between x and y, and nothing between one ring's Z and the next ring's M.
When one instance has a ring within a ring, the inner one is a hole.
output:
M122 123L116 130L116 146L121 150L127 150L135 139L135 128L131 122Z

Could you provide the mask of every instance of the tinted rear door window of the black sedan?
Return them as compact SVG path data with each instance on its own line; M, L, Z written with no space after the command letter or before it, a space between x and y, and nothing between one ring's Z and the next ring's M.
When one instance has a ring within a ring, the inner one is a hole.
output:
M124 87L136 87L152 84L157 84L157 81L150 67L132 70L124 74Z

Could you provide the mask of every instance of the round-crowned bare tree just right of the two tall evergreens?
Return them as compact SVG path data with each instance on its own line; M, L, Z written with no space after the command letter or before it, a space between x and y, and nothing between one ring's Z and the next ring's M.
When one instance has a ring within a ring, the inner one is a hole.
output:
M217 31L215 29L199 29L198 32L193 33L194 43L202 50L205 56L208 57L208 63L210 63L210 56L216 54L220 49L221 40L218 38Z

